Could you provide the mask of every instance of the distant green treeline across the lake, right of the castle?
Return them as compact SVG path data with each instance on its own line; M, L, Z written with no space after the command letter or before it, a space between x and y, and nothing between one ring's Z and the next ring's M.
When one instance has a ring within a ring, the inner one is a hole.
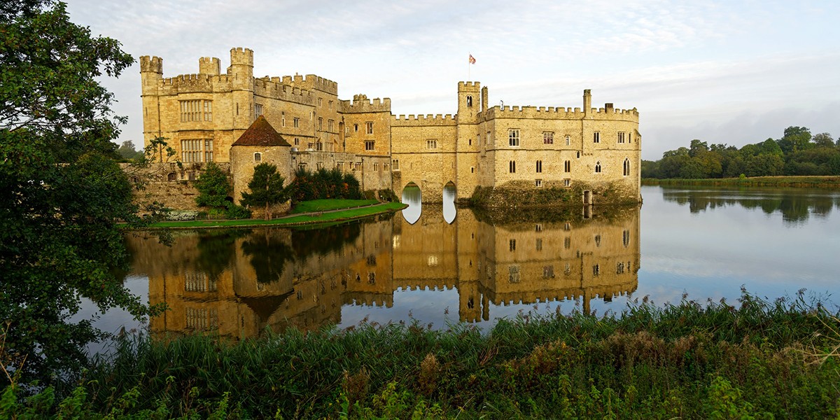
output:
M840 139L811 135L805 127L788 127L781 139L746 144L691 140L690 147L668 150L661 160L643 160L642 177L659 179L734 178L738 176L840 175Z

